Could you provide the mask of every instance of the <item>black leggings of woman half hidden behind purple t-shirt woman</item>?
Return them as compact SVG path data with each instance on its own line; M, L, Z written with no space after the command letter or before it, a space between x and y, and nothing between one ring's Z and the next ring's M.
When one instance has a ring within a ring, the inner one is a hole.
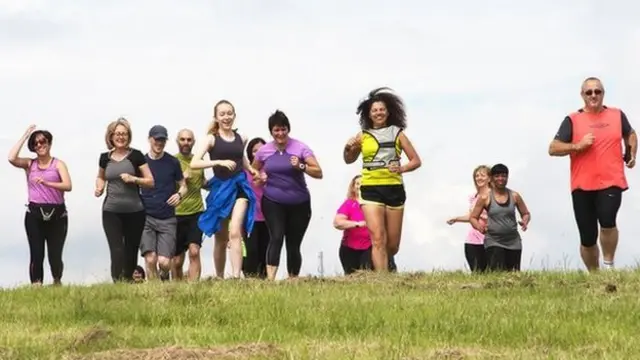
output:
M269 229L264 221L256 221L251 236L245 240L247 257L242 261L242 272L245 277L265 279L267 277L267 247L269 246Z

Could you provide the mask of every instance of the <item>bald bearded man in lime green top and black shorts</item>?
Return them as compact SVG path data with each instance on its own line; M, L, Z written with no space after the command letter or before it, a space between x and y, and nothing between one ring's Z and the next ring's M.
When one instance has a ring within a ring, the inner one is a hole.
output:
M200 248L202 247L202 230L198 227L198 217L204 211L204 203L200 190L205 188L204 170L192 170L189 166L193 157L192 149L195 144L193 131L182 129L176 139L179 152L175 157L180 161L182 175L187 182L187 194L176 207L178 220L176 236L176 254L173 258L173 278L183 279L182 268L185 253L189 253L189 281L200 279L202 266L200 263Z

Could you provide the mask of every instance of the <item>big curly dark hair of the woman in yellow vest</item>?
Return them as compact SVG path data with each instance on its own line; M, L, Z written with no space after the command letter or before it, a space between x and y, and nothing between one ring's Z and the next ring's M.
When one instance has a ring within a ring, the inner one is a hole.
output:
M369 112L371 111L373 103L378 101L382 101L387 107L387 112L389 113L387 125L396 125L402 129L407 127L407 114L404 110L404 103L402 102L402 99L392 92L384 90L393 91L388 87L371 90L369 97L358 105L356 114L360 116L360 127L363 130L371 129L373 127L373 121L371 121L371 118L369 117Z

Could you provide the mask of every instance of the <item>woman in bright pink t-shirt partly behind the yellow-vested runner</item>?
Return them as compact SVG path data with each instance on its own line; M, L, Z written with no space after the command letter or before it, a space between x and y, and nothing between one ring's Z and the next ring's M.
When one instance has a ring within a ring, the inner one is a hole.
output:
M343 230L340 243L340 262L345 275L357 270L371 270L371 238L364 222L364 214L358 204L357 194L360 191L360 175L349 183L347 199L338 209L333 226Z

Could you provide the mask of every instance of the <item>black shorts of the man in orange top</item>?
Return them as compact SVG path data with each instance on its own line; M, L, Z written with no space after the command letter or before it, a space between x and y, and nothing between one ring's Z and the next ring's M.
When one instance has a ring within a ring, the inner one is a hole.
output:
M598 242L598 224L603 229L616 227L622 192L612 186L602 190L574 190L571 192L573 214L580 233L580 243L591 247Z

